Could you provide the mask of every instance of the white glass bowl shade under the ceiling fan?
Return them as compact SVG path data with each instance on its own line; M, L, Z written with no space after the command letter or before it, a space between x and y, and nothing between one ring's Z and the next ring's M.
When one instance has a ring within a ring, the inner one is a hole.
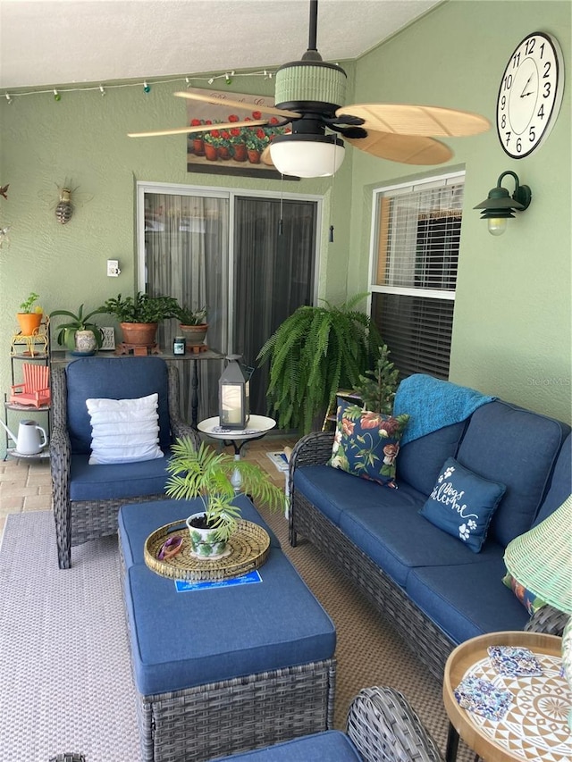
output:
M343 141L335 135L278 135L270 144L273 164L293 177L329 177L343 162Z

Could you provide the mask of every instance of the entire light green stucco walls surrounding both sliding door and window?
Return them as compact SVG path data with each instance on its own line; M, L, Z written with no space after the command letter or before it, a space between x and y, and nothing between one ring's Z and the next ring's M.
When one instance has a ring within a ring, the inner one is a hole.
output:
M448 105L493 121L501 74L520 39L536 29L559 39L568 82L559 120L543 147L511 160L494 128L446 141L455 151L450 166L467 171L450 378L568 421L570 11L568 0L450 0L356 63L343 64L348 102ZM2 391L11 382L14 314L29 291L37 291L50 312L75 311L82 302L92 308L135 288L137 180L280 191L277 180L187 173L182 136L126 137L129 130L183 124L185 103L172 92L184 87L184 79L157 82L148 95L142 87L107 88L105 96L98 90L68 93L65 88L74 86L55 84L63 91L58 103L51 91L13 96L12 104L0 97L0 184L10 183L8 200L0 198L0 222L12 224L11 245L0 249ZM273 82L237 78L232 89L267 94ZM284 182L284 192L324 195L321 297L335 301L366 289L371 188L420 169L349 147L334 183ZM509 169L531 186L534 199L494 239L471 207ZM66 178L91 200L62 226L53 207L56 186ZM335 240L329 244L331 222ZM120 260L120 278L106 276L107 259Z

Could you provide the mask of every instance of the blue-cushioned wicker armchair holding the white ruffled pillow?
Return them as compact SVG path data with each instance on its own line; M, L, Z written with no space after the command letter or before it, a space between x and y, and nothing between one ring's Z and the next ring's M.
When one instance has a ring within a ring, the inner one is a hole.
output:
M157 393L159 446L164 456L136 463L88 465L88 398L135 399ZM179 376L160 357L82 357L52 373L50 441L58 563L71 565L71 546L117 532L125 503L164 496L164 467L175 438L195 431L181 421Z

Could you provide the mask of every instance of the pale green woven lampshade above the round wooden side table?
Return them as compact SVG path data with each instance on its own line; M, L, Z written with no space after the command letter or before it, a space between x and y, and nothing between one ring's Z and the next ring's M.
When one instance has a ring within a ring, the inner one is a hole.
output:
M572 614L572 495L543 522L509 542L510 574L546 603Z

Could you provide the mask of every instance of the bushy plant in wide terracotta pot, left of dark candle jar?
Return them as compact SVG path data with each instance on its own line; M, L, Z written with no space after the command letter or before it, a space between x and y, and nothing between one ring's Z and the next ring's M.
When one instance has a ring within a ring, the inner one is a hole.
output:
M177 316L179 303L173 297L152 297L138 291L135 297L107 299L98 310L114 314L123 331L125 344L149 347L155 344L157 324Z

